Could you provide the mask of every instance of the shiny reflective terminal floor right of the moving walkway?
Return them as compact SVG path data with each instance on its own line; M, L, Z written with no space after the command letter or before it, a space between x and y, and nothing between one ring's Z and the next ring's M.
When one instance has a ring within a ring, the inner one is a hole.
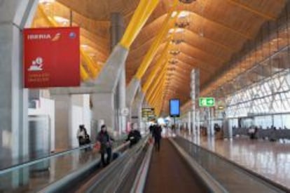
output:
M214 138L197 139L186 136L235 163L254 171L265 178L290 188L290 144L270 142L268 140L214 140Z

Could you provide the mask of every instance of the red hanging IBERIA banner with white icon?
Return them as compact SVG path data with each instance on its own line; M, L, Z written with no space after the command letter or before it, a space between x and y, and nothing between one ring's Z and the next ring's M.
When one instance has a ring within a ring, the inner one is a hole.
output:
M25 29L25 88L80 86L78 27Z

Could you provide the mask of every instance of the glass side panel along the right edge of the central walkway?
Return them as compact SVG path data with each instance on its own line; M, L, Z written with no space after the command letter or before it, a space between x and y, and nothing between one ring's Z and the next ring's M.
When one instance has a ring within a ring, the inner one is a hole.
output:
M286 187L256 175L181 136L174 138L174 142L177 142L228 192L290 192Z

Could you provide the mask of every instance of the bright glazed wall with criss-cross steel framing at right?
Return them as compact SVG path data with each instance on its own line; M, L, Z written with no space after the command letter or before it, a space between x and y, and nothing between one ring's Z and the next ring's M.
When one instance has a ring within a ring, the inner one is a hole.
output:
M228 117L290 112L290 72L274 74L226 98Z

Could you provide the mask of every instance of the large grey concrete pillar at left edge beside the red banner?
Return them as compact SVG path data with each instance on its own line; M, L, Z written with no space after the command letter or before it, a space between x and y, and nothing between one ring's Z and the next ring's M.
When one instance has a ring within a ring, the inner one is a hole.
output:
M0 1L0 162L28 154L28 91L22 84L22 32L36 1Z

